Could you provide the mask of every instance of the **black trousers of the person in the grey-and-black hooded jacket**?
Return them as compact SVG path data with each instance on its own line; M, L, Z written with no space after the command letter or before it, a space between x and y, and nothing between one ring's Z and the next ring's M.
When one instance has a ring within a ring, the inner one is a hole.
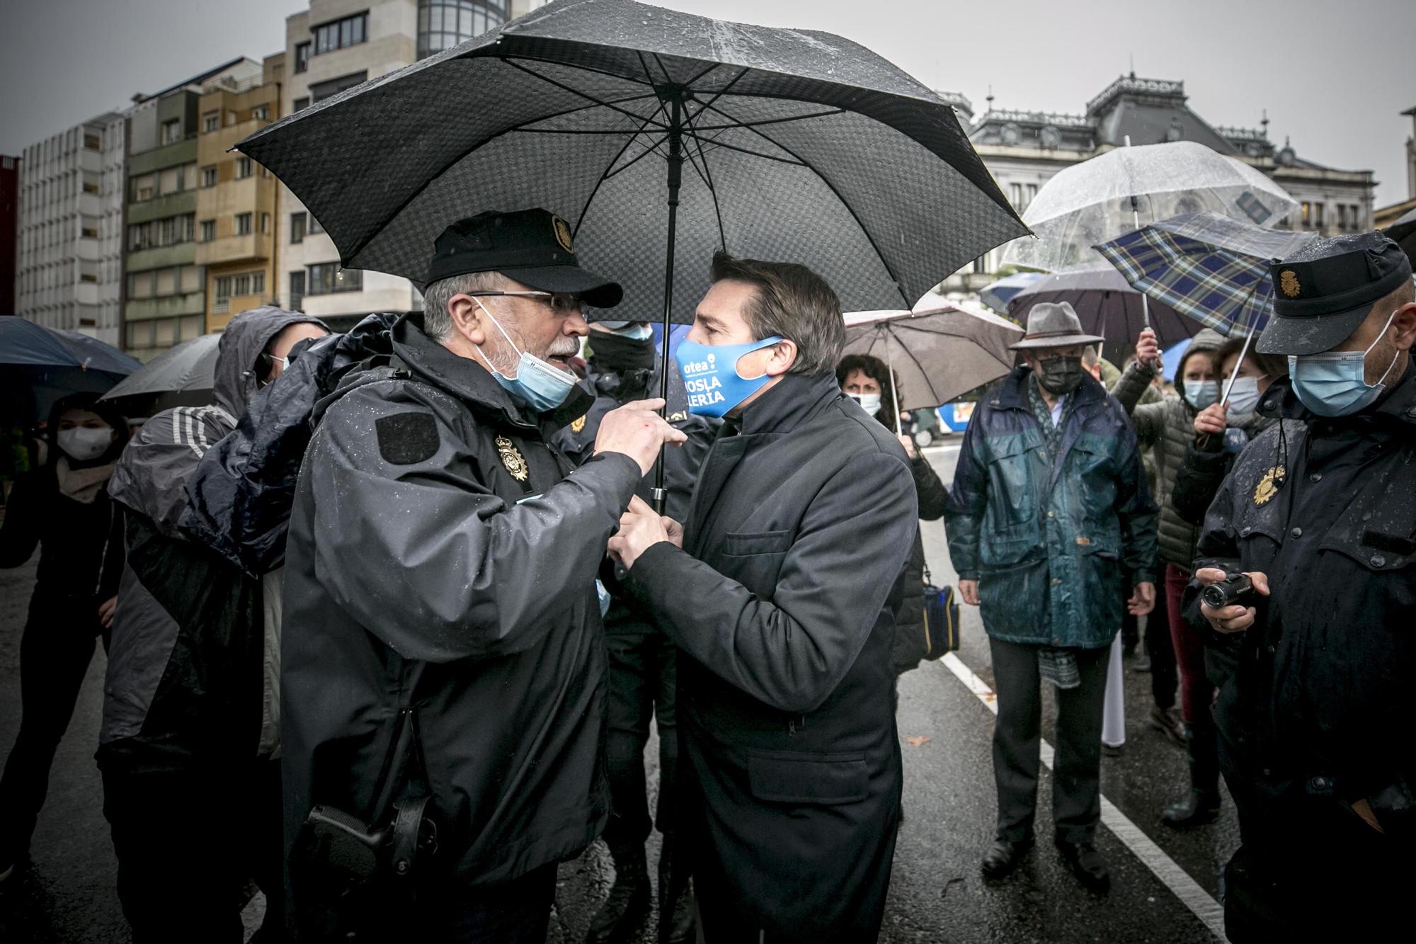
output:
M263 931L280 938L280 763L135 771L103 764L103 816L118 853L118 897L133 943L244 937L241 892L266 896Z

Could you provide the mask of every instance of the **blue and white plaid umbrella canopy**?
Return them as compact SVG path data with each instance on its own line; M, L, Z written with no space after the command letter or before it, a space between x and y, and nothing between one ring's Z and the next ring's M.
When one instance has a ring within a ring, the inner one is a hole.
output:
M1269 262L1315 238L1197 213L1153 223L1096 249L1151 299L1221 335L1247 336L1269 320Z

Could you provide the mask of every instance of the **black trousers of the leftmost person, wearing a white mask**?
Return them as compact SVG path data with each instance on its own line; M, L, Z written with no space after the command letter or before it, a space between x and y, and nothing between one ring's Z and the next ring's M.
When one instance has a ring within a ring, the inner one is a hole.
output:
M35 590L20 639L20 734L0 775L0 858L23 858L102 632L99 601Z

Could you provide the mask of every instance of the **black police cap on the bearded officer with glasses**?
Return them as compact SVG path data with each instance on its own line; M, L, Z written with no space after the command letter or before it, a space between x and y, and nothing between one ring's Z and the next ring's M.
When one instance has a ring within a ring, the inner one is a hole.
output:
M541 292L569 292L595 308L615 308L624 298L619 282L586 272L575 259L571 227L548 210L489 210L459 220L433 242L428 282L501 272Z

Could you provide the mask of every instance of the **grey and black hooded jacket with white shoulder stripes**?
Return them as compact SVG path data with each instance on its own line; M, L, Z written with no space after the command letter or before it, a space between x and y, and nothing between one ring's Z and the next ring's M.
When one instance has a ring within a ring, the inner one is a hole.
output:
M258 357L302 322L320 323L270 306L231 319L212 404L159 412L113 469L109 495L125 510L127 561L103 682L101 765L176 770L273 750L261 583L187 541L177 523L187 479L256 391Z

